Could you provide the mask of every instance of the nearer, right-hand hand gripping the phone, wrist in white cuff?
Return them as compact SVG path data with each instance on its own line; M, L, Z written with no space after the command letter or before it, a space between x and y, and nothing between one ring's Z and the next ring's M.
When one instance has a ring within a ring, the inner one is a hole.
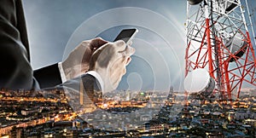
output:
M106 43L96 49L91 57L90 71L96 71L102 77L104 83L103 92L116 89L130 61L135 49L126 46L125 42L119 40L114 43Z

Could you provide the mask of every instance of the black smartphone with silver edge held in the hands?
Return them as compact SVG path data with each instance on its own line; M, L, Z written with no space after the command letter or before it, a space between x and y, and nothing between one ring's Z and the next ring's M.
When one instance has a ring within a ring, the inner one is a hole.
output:
M129 45L131 43L131 40L136 36L137 32L137 28L124 29L119 32L119 35L113 40L113 42L118 40L124 40L126 45Z

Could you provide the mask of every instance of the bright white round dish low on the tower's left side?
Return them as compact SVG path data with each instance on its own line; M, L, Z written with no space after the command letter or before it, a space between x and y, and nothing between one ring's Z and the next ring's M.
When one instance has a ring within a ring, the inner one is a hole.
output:
M188 73L184 79L184 89L189 94L201 94L208 96L215 88L215 81L210 77L207 70L198 68Z

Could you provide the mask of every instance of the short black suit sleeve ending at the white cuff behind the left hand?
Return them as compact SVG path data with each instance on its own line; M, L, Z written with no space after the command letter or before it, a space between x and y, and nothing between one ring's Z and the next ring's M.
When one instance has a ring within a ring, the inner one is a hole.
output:
M58 64L45 66L34 71L34 77L38 80L41 89L54 87L62 83Z

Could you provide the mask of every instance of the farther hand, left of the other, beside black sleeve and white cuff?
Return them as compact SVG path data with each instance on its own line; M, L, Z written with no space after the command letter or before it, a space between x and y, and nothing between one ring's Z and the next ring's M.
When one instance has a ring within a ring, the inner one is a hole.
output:
M79 77L89 70L91 55L107 41L100 37L83 41L62 62L62 67L67 80Z

